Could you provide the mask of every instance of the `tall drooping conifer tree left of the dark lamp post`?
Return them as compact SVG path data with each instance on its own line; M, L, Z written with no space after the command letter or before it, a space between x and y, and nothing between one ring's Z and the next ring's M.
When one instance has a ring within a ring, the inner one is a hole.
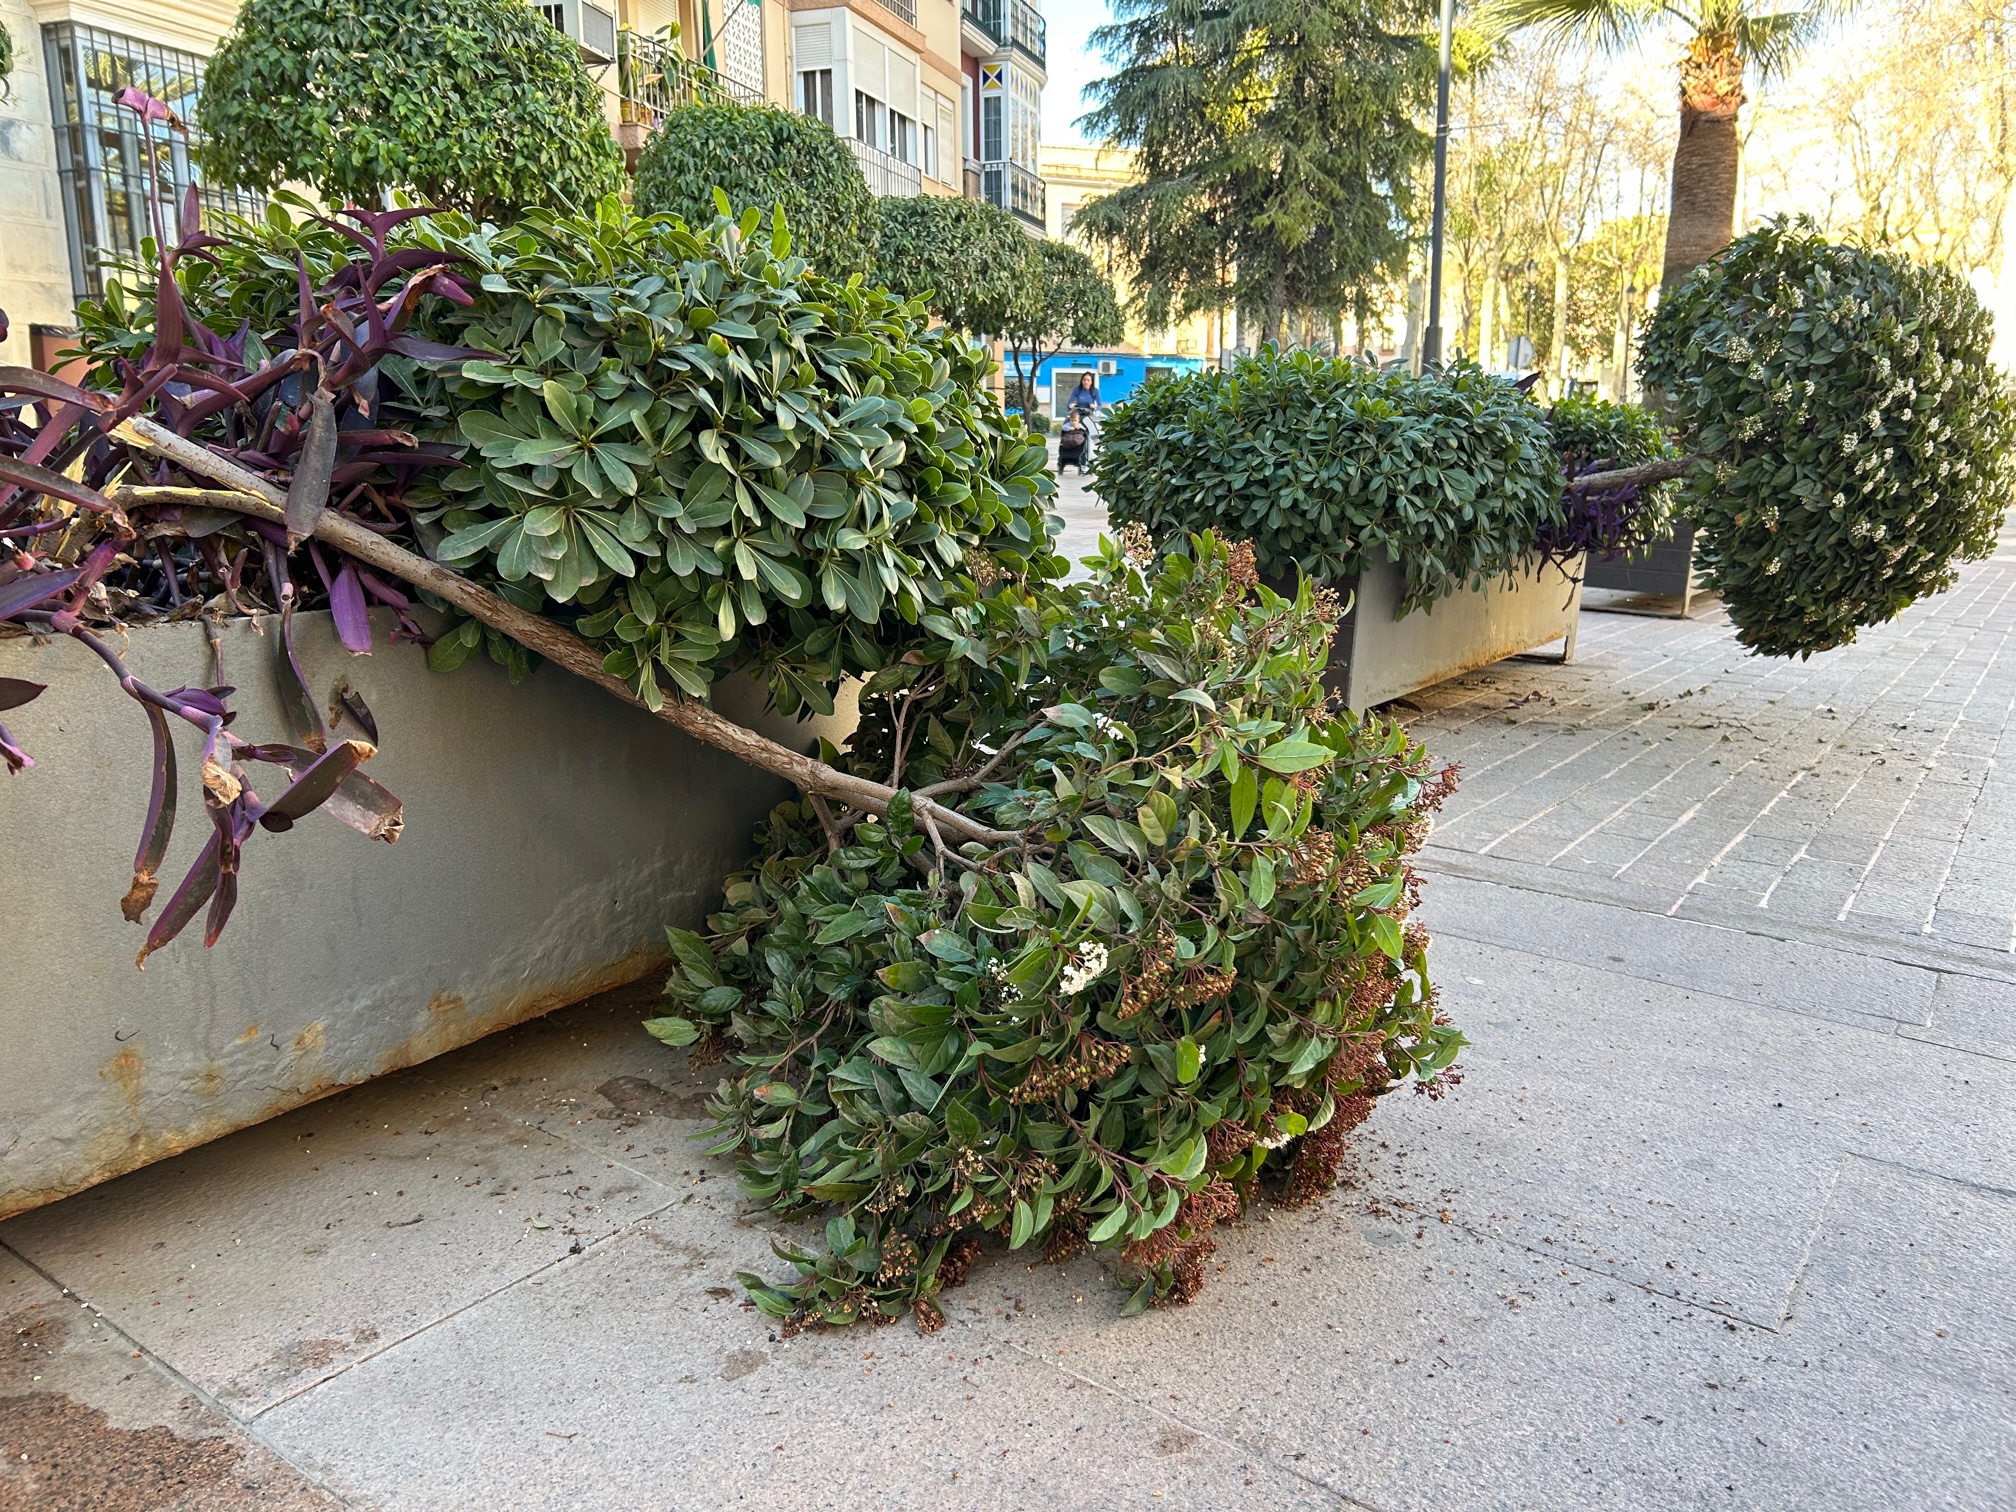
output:
M1115 73L1085 125L1141 181L1073 228L1129 266L1147 323L1238 306L1270 339L1329 327L1405 276L1431 139L1433 12L1419 0L1119 0Z

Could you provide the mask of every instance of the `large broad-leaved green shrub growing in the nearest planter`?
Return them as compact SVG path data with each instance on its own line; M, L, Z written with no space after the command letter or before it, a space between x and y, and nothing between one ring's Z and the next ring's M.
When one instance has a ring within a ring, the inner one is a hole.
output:
M841 677L962 633L968 552L1048 558L1054 482L988 393L986 353L812 274L754 210L694 232L611 198L504 232L439 216L401 234L462 258L476 298L429 298L413 335L488 353L385 359L381 423L470 464L403 506L429 554L571 623L645 702L659 679L706 696L748 667L786 710L831 710ZM292 319L296 258L321 286L349 254L274 206L177 274L194 314L250 323L264 355ZM85 310L101 357L151 329L151 298L119 286ZM468 619L431 661L484 647L528 667Z

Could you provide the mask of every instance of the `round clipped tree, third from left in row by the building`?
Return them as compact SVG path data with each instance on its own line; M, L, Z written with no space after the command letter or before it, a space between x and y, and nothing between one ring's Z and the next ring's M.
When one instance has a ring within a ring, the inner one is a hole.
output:
M941 194L885 196L877 206L875 278L909 298L927 294L923 306L954 331L1006 329L1030 254L1014 216Z

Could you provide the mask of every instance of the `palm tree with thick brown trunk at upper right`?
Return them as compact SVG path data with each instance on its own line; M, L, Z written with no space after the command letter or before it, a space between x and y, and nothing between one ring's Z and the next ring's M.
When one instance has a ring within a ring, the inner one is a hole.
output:
M1782 73L1839 8L1808 0L1792 10L1764 10L1770 0L1500 0L1508 28L1538 28L1564 42L1617 50L1663 22L1691 36L1679 60L1679 141L1673 147L1673 196L1665 224L1661 292L1716 256L1736 236L1740 145L1736 111L1744 71Z

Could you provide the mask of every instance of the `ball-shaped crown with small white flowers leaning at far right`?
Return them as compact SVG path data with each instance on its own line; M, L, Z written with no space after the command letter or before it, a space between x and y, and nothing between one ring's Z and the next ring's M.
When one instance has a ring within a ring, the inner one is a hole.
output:
M1994 550L2010 385L1958 272L1772 222L1659 304L1639 367L1706 466L1681 508L1738 639L1847 645Z

